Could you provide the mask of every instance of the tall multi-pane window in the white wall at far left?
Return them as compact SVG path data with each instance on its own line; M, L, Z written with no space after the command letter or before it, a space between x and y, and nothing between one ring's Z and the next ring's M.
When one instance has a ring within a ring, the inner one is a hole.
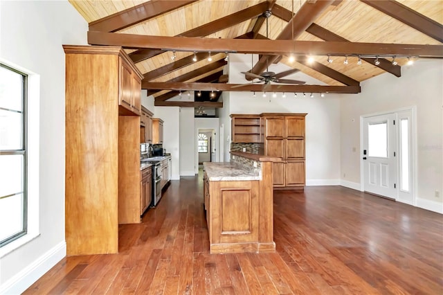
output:
M0 247L27 232L27 78L0 64Z

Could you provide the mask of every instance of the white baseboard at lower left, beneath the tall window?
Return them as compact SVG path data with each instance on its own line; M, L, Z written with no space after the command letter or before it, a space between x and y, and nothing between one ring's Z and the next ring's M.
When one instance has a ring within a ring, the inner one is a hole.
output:
M0 294L21 294L33 285L46 271L66 256L66 242L60 242L28 267L0 285Z

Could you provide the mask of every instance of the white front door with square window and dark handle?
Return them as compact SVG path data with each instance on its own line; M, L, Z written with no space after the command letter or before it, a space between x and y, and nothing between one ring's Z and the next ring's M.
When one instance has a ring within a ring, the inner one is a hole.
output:
M363 180L368 193L397 199L396 114L363 118Z

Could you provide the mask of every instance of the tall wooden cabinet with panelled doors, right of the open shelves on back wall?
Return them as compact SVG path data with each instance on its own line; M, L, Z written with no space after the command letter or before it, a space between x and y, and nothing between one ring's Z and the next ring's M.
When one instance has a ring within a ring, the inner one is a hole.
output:
M305 116L307 114L261 114L264 153L280 157L273 163L274 188L305 186Z

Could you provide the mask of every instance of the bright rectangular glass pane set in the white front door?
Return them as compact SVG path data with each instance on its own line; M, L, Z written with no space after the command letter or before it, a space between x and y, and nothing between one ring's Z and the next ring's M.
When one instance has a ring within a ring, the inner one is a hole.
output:
M368 124L368 156L388 157L388 123Z

